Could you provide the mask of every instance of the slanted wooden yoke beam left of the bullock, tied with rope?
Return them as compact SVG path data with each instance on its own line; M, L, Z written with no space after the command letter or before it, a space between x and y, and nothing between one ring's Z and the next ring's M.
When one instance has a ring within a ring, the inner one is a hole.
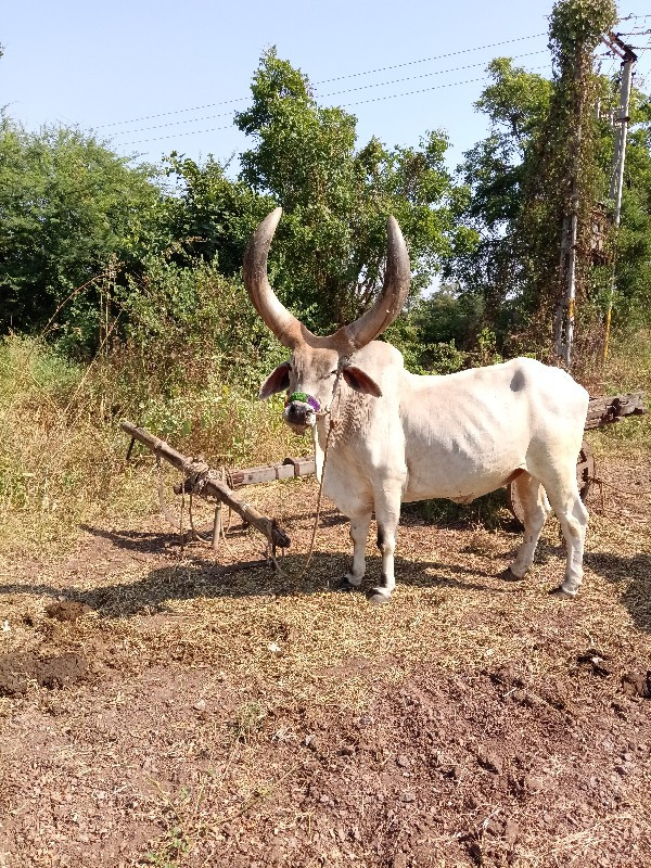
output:
M173 467L177 468L177 470L180 470L190 482L194 494L200 496L207 495L208 497L220 500L222 503L227 503L241 515L245 522L248 522L248 524L253 525L256 531L259 531L263 536L267 537L273 546L283 549L290 547L291 539L282 527L279 527L276 521L267 519L266 515L258 512L251 503L241 500L238 495L219 478L217 472L210 470L205 461L188 458L188 456L178 452L165 441L155 437L145 429L138 427L127 420L122 423L122 429L133 439L142 443L148 449L151 449L152 452L161 456L161 458L164 458L173 464Z

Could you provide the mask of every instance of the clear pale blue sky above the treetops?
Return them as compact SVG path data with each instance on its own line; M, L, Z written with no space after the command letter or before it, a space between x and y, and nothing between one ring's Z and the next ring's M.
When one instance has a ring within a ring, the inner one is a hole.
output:
M551 0L3 0L0 104L29 129L76 125L118 153L151 162L171 150L226 159L246 148L232 114L247 105L261 52L277 46L316 85L321 104L344 105L358 117L360 144L375 135L390 146L414 145L426 130L444 129L454 167L485 132L472 106L489 60L512 56L549 74L551 7ZM620 14L630 13L646 17L622 22L621 31L651 28L648 0L622 0ZM625 41L649 46L638 64L648 92L651 34ZM614 62L604 58L603 71L610 68Z

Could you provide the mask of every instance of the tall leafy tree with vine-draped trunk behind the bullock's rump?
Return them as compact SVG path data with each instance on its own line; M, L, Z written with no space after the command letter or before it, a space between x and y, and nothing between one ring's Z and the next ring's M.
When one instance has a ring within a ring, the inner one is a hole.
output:
M494 84L477 103L492 131L465 155L462 175L473 190L465 219L482 242L458 257L450 273L463 291L481 294L485 321L509 354L549 355L565 280L561 235L575 210L585 345L593 330L591 218L609 168L595 111L603 81L592 73L592 52L614 16L612 0L559 0L549 30L552 80L495 61Z

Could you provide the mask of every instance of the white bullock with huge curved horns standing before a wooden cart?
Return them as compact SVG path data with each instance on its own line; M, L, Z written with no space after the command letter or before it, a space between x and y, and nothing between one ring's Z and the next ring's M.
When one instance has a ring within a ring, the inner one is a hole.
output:
M565 576L556 592L574 597L582 583L587 511L576 481L588 394L564 371L520 358L445 376L405 370L401 354L374 341L399 314L409 289L409 257L396 220L387 225L387 264L373 307L334 334L318 337L275 295L269 246L281 216L259 225L244 259L251 299L289 361L265 381L260 397L289 393L285 421L314 433L317 475L330 430L323 490L350 520L353 565L345 587L365 575L371 515L378 522L382 583L372 602L395 586L394 550L401 501L445 497L468 503L509 482L525 513L524 541L507 578L531 567L550 503L566 542Z

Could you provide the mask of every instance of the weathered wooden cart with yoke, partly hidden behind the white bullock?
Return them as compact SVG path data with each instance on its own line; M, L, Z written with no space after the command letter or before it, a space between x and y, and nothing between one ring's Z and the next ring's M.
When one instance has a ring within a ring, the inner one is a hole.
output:
M644 394L636 392L628 395L616 395L614 397L590 398L588 405L588 416L586 419L586 431L603 427L613 422L621 422L629 416L642 416L647 412ZM145 429L138 427L131 422L122 423L123 431L131 437L131 445L127 458L136 441L146 446L156 456L156 459L164 459L181 471L184 476L182 485L175 486L176 494L197 495L204 499L215 501L215 521L213 526L213 547L217 548L219 534L221 532L221 507L224 503L241 515L242 520L259 531L268 540L271 553L275 554L278 548L286 549L291 545L288 534L278 525L273 519L268 519L258 512L255 507L242 500L234 488L244 485L255 485L263 482L273 482L275 480L289 480L293 476L309 476L315 473L314 456L307 458L285 458L277 464L266 464L258 468L247 468L245 470L231 470L228 473L217 471L208 467L203 459L189 458L174 449L165 441L150 434ZM580 496L585 500L590 484L595 478L595 459L589 445L584 441L582 450L576 463L576 474ZM158 487L161 508L168 521L179 528L179 523L169 513L164 502L162 487ZM508 486L508 503L514 516L522 522L523 511L518 499L516 488L513 484ZM182 528L180 528L182 529ZM193 529L193 528L191 528Z

